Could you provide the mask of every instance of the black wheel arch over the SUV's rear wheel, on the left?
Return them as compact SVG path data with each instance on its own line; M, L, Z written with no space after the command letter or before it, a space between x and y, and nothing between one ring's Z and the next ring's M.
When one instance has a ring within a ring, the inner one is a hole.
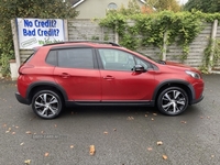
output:
M58 95L61 95L61 97L63 98L63 101L68 100L66 91L59 85L53 81L36 81L36 82L31 84L26 90L26 98L29 99L30 103L32 101L34 94L38 91L40 89L41 90L52 89L53 91L56 91L58 92Z

